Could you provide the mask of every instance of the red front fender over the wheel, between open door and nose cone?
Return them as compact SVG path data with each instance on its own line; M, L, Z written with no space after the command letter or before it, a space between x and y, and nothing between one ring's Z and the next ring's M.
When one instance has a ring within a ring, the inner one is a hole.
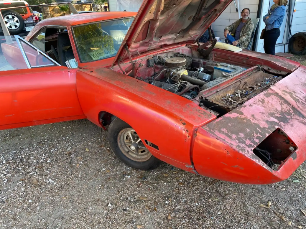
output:
M79 70L76 88L91 122L101 126L99 112L111 113L132 126L143 141L158 146L147 146L155 157L195 172L191 159L193 135L216 116L181 96L107 68Z

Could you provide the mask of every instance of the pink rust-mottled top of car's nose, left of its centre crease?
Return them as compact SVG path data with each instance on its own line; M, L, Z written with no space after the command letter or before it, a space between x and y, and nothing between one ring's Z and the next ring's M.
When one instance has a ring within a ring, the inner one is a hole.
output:
M276 85L278 84L274 86ZM300 129L299 135L302 135L302 132L303 136L306 135L305 116L276 93L273 87L247 101L245 107L240 106L202 128L259 164L264 164L252 150L277 128L282 128L291 138L300 137L296 133L297 127Z

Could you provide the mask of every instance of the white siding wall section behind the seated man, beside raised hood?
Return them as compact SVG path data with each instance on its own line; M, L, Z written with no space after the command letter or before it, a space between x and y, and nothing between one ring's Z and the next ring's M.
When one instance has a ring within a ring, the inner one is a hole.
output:
M236 3L238 3L237 0ZM234 23L236 20L238 20L239 16L241 15L241 11L244 8L250 9L251 18L253 19L256 18L258 4L259 0L239 0L240 12L237 13L234 2L231 2L231 4L223 11L223 13L212 24L212 29L215 32L215 36L220 37L222 40L224 40L224 28Z

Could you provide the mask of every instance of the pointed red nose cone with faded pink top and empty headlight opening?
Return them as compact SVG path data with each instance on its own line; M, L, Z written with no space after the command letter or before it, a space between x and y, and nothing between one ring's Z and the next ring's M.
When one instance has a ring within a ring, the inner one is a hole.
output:
M238 183L287 179L306 159L305 76L306 67L301 66L244 105L200 128L192 154L196 171ZM252 150L277 128L285 131L298 150L274 171Z

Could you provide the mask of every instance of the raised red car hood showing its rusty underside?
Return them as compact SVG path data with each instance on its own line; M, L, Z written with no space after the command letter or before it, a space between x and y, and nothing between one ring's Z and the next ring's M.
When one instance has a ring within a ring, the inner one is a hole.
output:
M195 43L232 0L144 0L114 59Z

